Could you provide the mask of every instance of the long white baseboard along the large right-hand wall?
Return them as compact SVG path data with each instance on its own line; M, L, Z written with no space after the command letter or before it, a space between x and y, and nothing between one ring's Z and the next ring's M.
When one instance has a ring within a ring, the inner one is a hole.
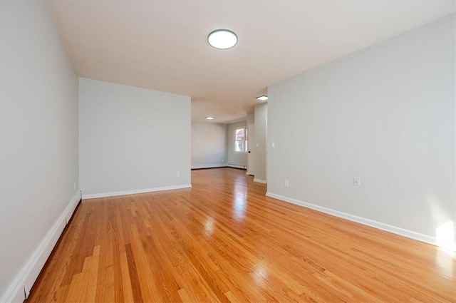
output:
M293 203L293 204L296 204L296 205L301 205L301 206L304 206L304 207L307 207L307 208L311 208L312 210L317 210L318 212L324 212L324 213L326 213L328 215L341 217L341 218L346 219L346 220L350 220L350 221L353 221L353 222L361 223L363 225L368 225L368 226L371 226L371 227L375 227L375 228L377 228L379 230L385 230L387 232L393 232L393 234L396 234L396 235L400 235L400 236L403 236L403 237L408 237L408 238L413 239L413 240L418 240L418 241L421 241L421 242L425 242L425 243L437 246L437 238L436 237L423 235L423 234L420 234L419 232L413 232L412 230L405 230L404 228L401 228L401 227L395 227L393 225L388 225L388 224L385 224L385 223L382 223L382 222L377 222L377 221L366 219L366 218L363 218L363 217L358 217L356 215L350 215L350 214L347 214L346 212L340 212L338 210L331 210L331 208L326 208L326 207L323 207L323 206L318 206L318 205L314 205L314 204L311 204L311 203L303 202L303 201L300 201L300 200L293 199L291 197L284 197L282 195L276 195L276 194L274 194L272 192L266 192L266 196L274 197L276 199L279 199L279 200L282 200L282 201L285 201L285 202L290 202L290 203Z

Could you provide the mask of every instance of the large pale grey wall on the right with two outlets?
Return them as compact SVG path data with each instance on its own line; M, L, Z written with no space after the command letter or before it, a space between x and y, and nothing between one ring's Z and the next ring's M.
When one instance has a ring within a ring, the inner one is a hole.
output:
M456 220L455 54L453 14L270 86L269 195L435 242Z

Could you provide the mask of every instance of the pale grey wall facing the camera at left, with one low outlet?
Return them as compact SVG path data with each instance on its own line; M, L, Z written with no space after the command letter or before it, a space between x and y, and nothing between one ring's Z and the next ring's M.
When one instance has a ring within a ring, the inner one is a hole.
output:
M83 197L189 187L190 140L190 97L80 78Z

